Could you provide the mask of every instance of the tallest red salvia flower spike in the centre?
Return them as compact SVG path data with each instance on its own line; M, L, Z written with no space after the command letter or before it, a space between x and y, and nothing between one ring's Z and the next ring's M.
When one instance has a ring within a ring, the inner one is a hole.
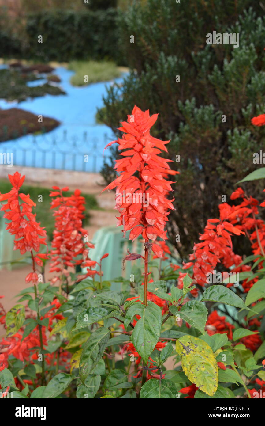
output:
M104 190L116 187L115 208L120 213L117 226L123 225L124 233L131 230L129 239L132 240L139 235L145 241L155 241L157 237L167 239L165 223L169 211L174 209L174 198L167 199L173 182L165 178L178 172L170 170L168 161L171 160L158 156L161 150L167 152L165 144L169 141L163 142L150 135L157 116L150 117L149 111L143 112L134 107L132 114L128 115L128 122L123 121L118 129L124 133L122 139L107 145L117 142L124 158L116 160L115 169L119 176ZM158 245L153 251L156 256L163 256Z

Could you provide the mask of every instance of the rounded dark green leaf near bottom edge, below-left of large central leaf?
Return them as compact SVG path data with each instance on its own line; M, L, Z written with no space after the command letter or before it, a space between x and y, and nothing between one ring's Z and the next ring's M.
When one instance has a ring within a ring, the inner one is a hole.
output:
M125 393L123 389L128 389L132 386L133 383L128 382L128 376L125 371L115 368L106 377L102 390L105 394L118 398Z

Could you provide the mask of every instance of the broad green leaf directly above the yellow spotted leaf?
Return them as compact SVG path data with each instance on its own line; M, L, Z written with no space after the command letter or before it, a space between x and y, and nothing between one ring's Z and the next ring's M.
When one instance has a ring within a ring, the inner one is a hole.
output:
M197 328L202 334L205 334L204 328L207 320L208 309L203 303L197 300L192 300L185 303L180 311L176 306L170 306L169 311L171 314L176 315L177 318L188 322L189 325Z

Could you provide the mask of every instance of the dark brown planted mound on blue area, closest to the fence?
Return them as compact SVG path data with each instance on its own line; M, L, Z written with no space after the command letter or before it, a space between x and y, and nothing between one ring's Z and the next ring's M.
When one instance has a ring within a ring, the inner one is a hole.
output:
M54 118L42 119L39 123L37 115L19 108L0 109L0 142L28 133L50 132L60 124Z

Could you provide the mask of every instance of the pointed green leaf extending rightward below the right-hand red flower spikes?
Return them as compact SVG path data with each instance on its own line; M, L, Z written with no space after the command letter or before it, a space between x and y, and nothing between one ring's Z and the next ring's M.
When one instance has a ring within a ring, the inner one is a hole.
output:
M237 308L246 308L243 300L223 285L211 285L202 294L202 300L209 300L210 302L225 303L226 305L236 306Z

